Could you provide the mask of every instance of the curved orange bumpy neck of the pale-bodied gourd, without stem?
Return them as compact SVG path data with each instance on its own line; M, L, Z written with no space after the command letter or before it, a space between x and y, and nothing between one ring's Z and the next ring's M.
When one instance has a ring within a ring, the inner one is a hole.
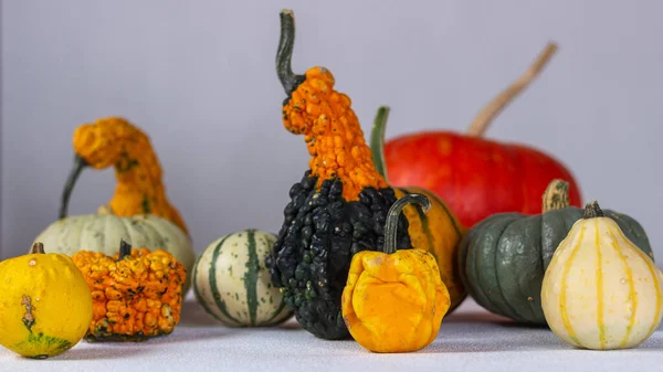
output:
M117 185L108 206L113 214L131 216L154 214L187 226L169 203L161 180L161 167L148 136L120 117L108 117L84 124L74 131L74 151L90 167L115 167Z

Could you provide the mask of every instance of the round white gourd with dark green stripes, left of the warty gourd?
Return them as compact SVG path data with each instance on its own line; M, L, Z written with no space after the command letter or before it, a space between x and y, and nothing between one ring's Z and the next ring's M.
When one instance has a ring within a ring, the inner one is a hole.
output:
M229 327L276 326L290 319L264 261L276 235L245 230L210 244L193 266L196 298L208 313Z

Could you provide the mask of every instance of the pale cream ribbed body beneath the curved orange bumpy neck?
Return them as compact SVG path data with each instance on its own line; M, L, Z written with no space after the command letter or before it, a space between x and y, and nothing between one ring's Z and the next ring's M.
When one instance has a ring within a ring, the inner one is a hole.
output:
M78 251L103 252L113 256L117 253L120 240L134 247L164 249L172 254L187 268L182 296L190 288L196 262L191 241L176 224L155 215L73 215L53 222L34 242L42 242L50 252L69 256Z

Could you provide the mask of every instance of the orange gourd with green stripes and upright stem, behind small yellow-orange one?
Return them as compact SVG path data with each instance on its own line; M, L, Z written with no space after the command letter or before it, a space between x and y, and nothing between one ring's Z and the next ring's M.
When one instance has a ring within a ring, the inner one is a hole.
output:
M371 152L377 170L389 182L387 164L385 162L385 131L389 107L382 106L373 120L371 131ZM396 198L401 199L408 194L422 194L431 202L428 214L421 213L415 205L407 205L403 214L408 219L408 233L415 248L430 252L438 262L442 281L451 296L450 313L466 297L465 288L459 272L459 243L466 233L457 219L446 204L430 190L418 187L394 188Z

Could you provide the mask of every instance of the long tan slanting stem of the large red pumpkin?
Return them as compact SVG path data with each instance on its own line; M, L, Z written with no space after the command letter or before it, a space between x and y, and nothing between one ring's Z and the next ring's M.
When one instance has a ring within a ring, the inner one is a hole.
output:
M520 75L511 86L504 89L502 93L497 95L492 102L490 102L484 108L478 113L478 115L474 118L472 124L470 125L470 129L467 130L467 135L481 137L488 129L491 123L495 119L502 110L518 95L523 89L525 89L529 83L544 70L548 61L555 52L557 51L557 44L549 42L546 45L546 49L539 54L539 56L534 61L534 63L529 66L529 68Z

